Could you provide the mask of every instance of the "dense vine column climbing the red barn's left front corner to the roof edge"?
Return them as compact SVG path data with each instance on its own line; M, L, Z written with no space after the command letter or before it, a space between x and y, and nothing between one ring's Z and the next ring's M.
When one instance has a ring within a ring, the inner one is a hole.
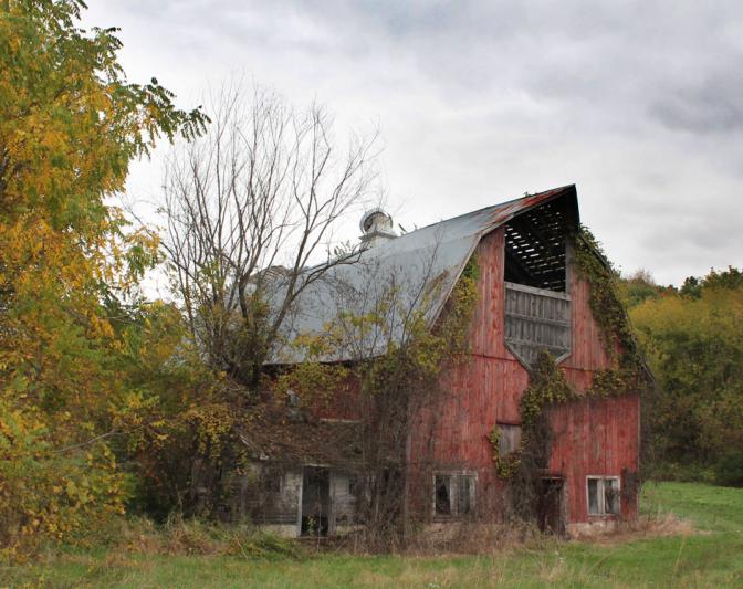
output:
M420 409L430 406L440 395L446 395L441 376L448 367L469 358L469 329L478 301L479 266L472 256L431 327L426 309L399 308L400 316L408 316L401 341L389 339L381 356L362 358L353 367L359 383L358 404L362 414L364 464L358 474L357 509L367 522L365 539L372 549L405 541L412 526L405 506L405 485L408 480L407 440L411 420ZM436 288L437 280L432 281ZM391 304L401 303L393 294ZM430 293L431 301L438 298ZM373 317L384 324L386 316ZM384 327L384 325L381 325ZM399 476L389 476L390 463Z

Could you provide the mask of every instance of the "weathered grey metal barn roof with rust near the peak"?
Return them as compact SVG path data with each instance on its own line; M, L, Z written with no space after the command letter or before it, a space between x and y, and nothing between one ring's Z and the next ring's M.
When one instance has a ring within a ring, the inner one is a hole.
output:
M311 284L297 298L291 317L282 328L283 345L273 350L266 364L302 361L302 353L291 346L296 336L322 333L338 313L357 316L370 313L375 302L390 285L396 287L400 308L422 311L431 324L484 235L519 214L561 197L571 199L577 222L575 185L569 185L423 227L365 250L354 264L329 269L322 280ZM421 296L430 283L437 284L435 294ZM426 308L422 308L423 305ZM381 354L389 339L399 343L405 337L404 320L391 322L386 334L368 335L369 340L363 346L365 357ZM359 346L354 344L358 343L341 346L321 359L358 359Z

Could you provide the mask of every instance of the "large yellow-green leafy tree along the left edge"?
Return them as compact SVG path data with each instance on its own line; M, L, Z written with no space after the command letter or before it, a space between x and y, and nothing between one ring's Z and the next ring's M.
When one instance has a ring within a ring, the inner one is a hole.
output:
M123 511L109 442L142 403L109 311L157 243L106 198L158 137L202 130L156 80L129 83L115 29L79 0L0 3L0 546Z

